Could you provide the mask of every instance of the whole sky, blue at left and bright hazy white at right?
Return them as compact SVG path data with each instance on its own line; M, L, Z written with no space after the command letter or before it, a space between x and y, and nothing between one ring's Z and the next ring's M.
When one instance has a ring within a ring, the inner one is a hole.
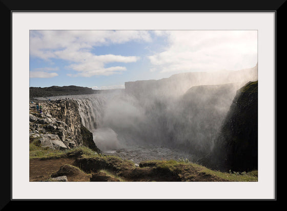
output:
M257 63L256 30L30 30L30 87L125 88Z

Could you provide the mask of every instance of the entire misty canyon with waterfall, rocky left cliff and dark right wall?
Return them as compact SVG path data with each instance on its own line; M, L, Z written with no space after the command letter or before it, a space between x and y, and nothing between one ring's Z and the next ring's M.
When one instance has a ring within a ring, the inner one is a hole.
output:
M257 71L256 65L126 82L125 89L101 93L30 95L30 143L86 146L137 164L187 158L212 169L251 171L257 168Z

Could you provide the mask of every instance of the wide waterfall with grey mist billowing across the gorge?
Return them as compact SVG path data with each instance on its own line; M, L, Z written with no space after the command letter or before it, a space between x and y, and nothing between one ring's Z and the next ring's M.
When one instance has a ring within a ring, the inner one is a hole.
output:
M125 92L75 98L83 125L103 151L162 145L208 153L238 85L195 86L179 98L137 99Z

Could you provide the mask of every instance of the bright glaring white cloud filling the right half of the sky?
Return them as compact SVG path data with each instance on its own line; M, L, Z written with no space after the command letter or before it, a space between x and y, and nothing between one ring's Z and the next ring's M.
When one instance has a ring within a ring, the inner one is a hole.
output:
M169 48L149 56L151 72L216 71L257 62L257 31L158 31Z

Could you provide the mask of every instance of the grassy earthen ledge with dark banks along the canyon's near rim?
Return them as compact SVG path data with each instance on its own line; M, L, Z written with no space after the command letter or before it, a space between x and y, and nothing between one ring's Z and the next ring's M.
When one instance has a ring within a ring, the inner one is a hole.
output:
M58 151L40 147L37 140L30 144L30 160L53 162L65 157L74 158L73 166L92 175L91 181L258 181L257 171L223 173L185 159L148 160L136 166L130 160L98 154L87 147ZM98 180L103 178L106 180Z

